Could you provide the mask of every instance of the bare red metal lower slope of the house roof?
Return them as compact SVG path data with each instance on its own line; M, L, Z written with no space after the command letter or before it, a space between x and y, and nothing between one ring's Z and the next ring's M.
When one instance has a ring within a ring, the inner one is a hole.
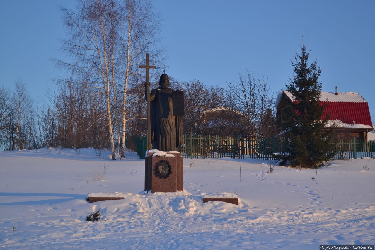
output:
M368 102L321 102L326 106L323 118L329 114L330 120L341 120L347 124L372 126ZM354 121L354 122L353 122Z

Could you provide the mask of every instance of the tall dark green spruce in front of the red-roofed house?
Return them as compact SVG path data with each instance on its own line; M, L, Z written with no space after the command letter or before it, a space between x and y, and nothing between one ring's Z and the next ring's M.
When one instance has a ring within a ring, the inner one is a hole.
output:
M290 164L315 167L329 161L335 152L333 130L327 131L328 117L323 117L324 106L320 103L322 83L317 60L308 65L309 52L302 44L302 53L294 56L293 79L286 84L293 101L284 110L284 130L290 138Z

